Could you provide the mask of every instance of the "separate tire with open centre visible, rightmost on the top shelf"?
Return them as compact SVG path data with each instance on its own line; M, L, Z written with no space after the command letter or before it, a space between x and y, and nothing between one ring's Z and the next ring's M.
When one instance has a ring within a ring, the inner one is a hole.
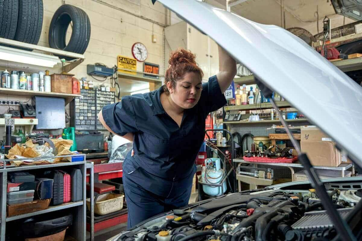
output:
M72 35L66 44L67 29L72 22ZM90 39L90 21L87 13L70 4L60 6L54 13L49 27L49 45L73 53L83 54ZM59 56L66 60L72 57Z

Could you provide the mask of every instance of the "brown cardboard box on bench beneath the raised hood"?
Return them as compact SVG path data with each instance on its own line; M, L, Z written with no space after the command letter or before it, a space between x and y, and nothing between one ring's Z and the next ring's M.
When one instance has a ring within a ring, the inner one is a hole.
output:
M316 126L302 126L300 133L300 148L313 166L337 167L342 162L350 162L336 149L336 143Z

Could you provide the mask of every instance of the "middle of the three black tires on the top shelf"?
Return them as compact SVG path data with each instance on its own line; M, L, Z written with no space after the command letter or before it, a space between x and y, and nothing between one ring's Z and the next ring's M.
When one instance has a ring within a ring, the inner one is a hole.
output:
M38 44L43 26L43 0L18 0L18 24L14 40ZM19 49L32 51L33 49Z

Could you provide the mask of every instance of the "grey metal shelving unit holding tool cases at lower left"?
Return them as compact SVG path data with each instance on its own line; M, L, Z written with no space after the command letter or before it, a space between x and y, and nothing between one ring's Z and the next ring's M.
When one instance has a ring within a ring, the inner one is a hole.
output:
M71 155L64 155L63 157L71 157ZM78 241L85 241L86 240L86 209L87 209L87 193L86 193L86 181L87 181L87 168L93 170L93 164L87 163L86 155L83 154L84 161L81 162L59 162L54 164L45 164L45 165L30 165L30 166L6 166L6 163L10 160L0 160L3 162L4 166L0 169L0 187L1 195L0 195L0 216L1 216L1 229L0 229L0 241L5 241L5 230L6 225L14 220L28 218L30 216L45 214L49 212L65 210L65 209L73 209L73 224L70 227L71 229L71 236ZM26 158L29 160L32 158ZM33 158L36 160L39 159L49 159L49 158ZM19 160L19 159L18 159ZM26 214L16 215L7 217L7 179L9 172L15 171L30 171L30 170L37 170L37 169L47 169L49 168L62 168L62 167L76 167L81 170L83 176L83 199L79 202L67 202L63 203L62 205L58 206L50 206L48 209L30 212ZM92 172L92 171L91 171ZM90 182L91 188L93 188L93 182ZM92 193L91 193L92 195ZM93 198L91 198L92 200ZM92 205L93 203L91 203ZM5 222L4 222L5 220Z

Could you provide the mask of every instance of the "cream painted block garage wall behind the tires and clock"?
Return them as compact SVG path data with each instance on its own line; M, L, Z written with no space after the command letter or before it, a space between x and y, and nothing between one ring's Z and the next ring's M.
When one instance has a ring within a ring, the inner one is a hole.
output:
M146 45L147 62L159 64L160 73L164 73L163 26L170 21L167 19L166 9L159 2L152 5L151 0L43 0L44 19L39 45L49 47L48 34L51 18L63 3L83 9L88 14L91 23L90 41L84 53L85 60L70 71L77 78L87 76L87 64L101 62L112 67L117 64L118 55L132 57L131 47L135 42ZM151 41L152 29L157 43ZM50 73L59 73L59 66L51 69ZM137 63L137 70L143 70L143 63ZM94 85L99 84L91 76L87 76L87 79L93 80ZM110 80L101 83L109 86ZM0 93L0 99L25 102L29 100L29 97ZM0 105L1 114L6 113L7 109L8 106ZM14 109L17 108L14 107ZM69 110L69 106L66 109ZM0 135L3 133L4 128L0 127Z

